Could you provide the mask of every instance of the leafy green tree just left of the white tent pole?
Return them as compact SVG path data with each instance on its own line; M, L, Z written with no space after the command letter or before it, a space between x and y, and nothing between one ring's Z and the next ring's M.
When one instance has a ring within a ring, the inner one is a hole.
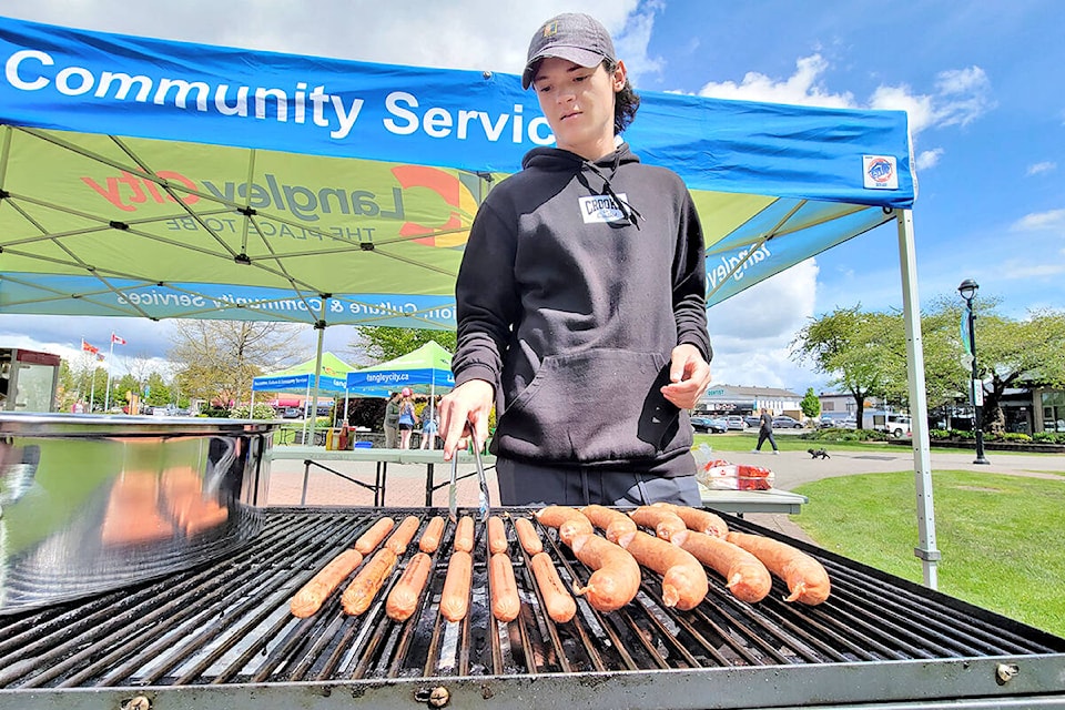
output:
M889 392L897 378L897 363L893 369L895 358L884 347L895 339L891 316L860 308L836 308L812 320L795 335L792 357L812 362L814 369L831 375L834 386L854 397L858 427L862 428L865 399Z

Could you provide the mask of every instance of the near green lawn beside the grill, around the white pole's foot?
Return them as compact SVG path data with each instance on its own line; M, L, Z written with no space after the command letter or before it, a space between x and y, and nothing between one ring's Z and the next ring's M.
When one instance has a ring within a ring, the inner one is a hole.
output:
M825 478L791 516L825 549L922 581L913 471ZM939 589L1065 637L1065 477L933 474Z

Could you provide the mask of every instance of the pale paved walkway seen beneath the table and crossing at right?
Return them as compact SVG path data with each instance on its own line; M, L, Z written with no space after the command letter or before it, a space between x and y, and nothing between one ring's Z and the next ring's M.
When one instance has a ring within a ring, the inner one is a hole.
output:
M779 456L770 452L721 452L720 456L734 464L755 464L771 468L775 475L775 487L792 490L802 484L833 476L854 474L890 473L913 470L913 452L905 447L885 448L883 452L833 452L831 444L825 448L831 458L814 459L807 452L781 452ZM1065 457L1026 456L988 452L991 465L973 464L973 454L949 454L932 450L933 470L976 470L1015 476L1062 477L1065 478ZM358 480L373 483L374 465L347 462L329 462L335 468ZM473 466L459 466L459 476L471 473ZM435 466L435 483L446 484L450 476L450 465L440 463ZM271 464L270 505L300 505L303 489L304 467L297 460L277 460ZM388 507L422 507L425 505L426 467L422 465L390 464L385 505ZM499 499L495 470L487 473L489 495ZM470 476L458 483L458 505L477 505L477 477ZM306 505L311 506L369 506L373 493L351 481L344 480L317 467L311 468L307 480ZM447 486L440 487L433 496L433 505L447 506ZM747 519L779 530L790 537L812 542L802 528L792 520L792 516L771 514L748 514ZM801 517L801 516L800 516Z

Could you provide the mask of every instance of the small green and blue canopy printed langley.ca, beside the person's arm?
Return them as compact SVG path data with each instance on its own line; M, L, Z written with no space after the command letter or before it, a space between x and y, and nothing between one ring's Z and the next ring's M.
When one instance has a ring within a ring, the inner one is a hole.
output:
M386 363L347 373L348 392L366 396L387 397L404 387L436 396L437 389L447 392L454 386L452 354L436 341Z

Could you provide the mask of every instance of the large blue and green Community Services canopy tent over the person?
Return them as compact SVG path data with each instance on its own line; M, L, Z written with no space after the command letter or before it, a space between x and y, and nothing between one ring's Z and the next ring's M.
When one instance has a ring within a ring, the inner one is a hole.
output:
M511 74L6 18L0 60L0 313L450 328L477 206L552 142ZM896 221L935 586L905 114L641 99L626 138L692 191L710 305Z

